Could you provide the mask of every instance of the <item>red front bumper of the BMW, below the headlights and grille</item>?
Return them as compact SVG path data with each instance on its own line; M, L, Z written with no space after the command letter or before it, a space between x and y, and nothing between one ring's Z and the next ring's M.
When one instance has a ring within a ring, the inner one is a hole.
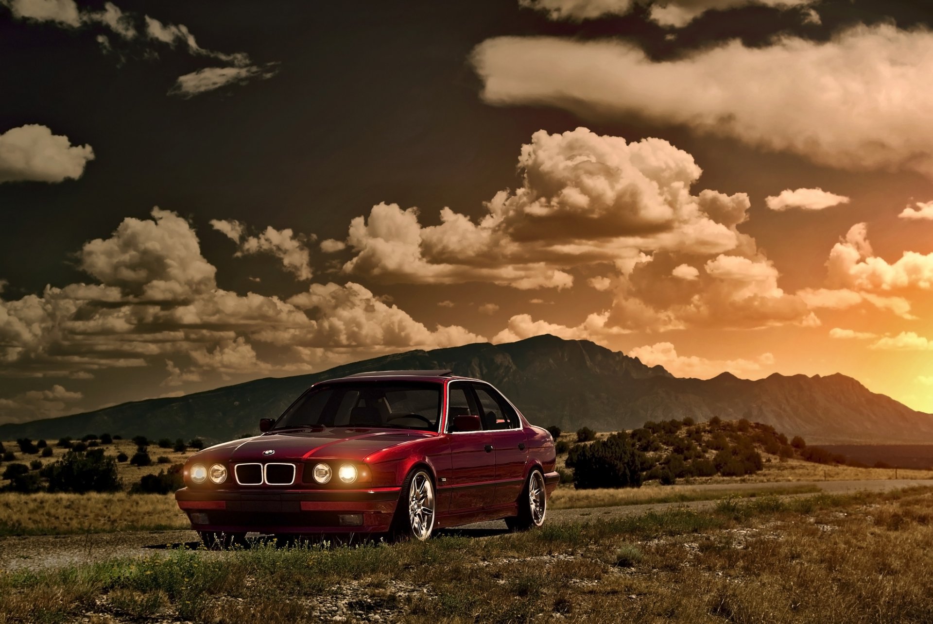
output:
M196 491L175 501L195 531L262 534L385 533L401 488L341 491Z

